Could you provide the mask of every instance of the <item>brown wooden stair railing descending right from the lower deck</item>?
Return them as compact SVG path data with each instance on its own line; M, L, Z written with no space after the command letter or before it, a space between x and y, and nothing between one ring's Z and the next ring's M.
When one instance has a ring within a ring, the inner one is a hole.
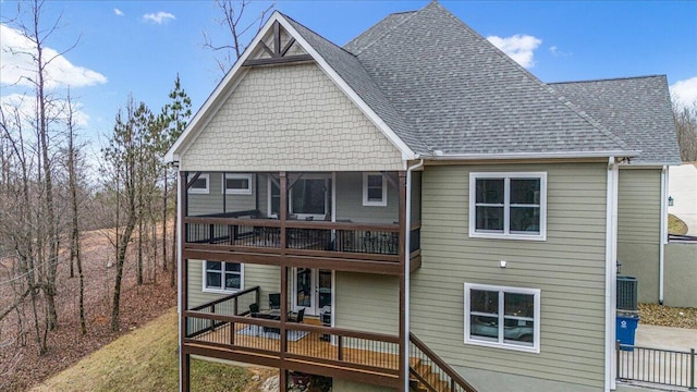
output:
M413 333L409 342L409 373L416 383L430 392L477 392Z

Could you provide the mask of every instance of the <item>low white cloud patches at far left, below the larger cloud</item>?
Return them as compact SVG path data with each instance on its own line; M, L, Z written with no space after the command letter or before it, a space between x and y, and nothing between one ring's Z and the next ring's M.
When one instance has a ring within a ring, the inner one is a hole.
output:
M83 105L80 102L73 101L73 122L75 125L80 127L86 127L89 122L89 115L82 111ZM65 106L68 101L63 99L53 99L50 101L48 106L48 115L49 118L58 119L59 121L65 121ZM33 126L33 121L30 119L36 118L36 100L34 96L25 96L22 94L10 94L7 96L0 96L0 107L5 115L12 121L11 113L14 113L14 110L19 111L21 121L23 121L23 126L25 128L30 128Z

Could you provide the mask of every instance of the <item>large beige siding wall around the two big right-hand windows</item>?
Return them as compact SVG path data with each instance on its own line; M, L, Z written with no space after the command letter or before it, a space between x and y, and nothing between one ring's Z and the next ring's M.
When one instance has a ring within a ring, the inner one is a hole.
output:
M469 169L547 172L547 241L469 238ZM453 366L602 388L606 187L596 163L426 168L412 331ZM464 282L540 289L540 354L465 345Z

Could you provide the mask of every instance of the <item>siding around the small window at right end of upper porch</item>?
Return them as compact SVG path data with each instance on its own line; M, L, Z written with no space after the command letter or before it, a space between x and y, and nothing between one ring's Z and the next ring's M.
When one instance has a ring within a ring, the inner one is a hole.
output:
M396 179L396 175L390 173ZM388 223L398 221L400 195L399 189L387 181L388 205L384 207L363 205L363 173L337 173L337 219L350 219L362 223Z

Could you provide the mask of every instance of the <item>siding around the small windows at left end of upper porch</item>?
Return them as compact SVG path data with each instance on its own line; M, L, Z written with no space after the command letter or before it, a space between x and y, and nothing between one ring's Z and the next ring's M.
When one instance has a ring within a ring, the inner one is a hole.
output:
M223 195L222 173L206 172L210 184L208 194L189 193L187 195L188 216L200 216L223 212L223 197L225 198L225 211L246 211L256 208L256 174L252 174L252 195ZM261 185L266 186L266 182ZM261 200L259 200L261 203ZM266 199L264 200L266 205Z

